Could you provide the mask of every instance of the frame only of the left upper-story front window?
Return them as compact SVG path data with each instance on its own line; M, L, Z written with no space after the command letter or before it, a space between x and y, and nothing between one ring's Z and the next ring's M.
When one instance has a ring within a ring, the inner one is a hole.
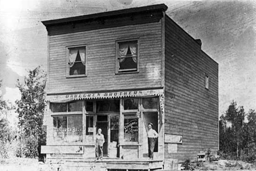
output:
M71 48L85 48L85 74L80 75L69 75L69 49ZM88 45L87 44L78 44L78 45L68 45L66 46L66 78L77 78L77 77L85 77L87 76L87 68L88 68Z

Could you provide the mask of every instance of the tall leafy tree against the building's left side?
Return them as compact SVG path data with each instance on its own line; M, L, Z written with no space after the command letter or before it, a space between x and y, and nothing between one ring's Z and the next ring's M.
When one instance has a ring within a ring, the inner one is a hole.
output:
M28 70L28 76L24 78L24 84L17 81L17 87L21 92L21 99L16 101L16 112L19 114L19 127L21 129L21 141L26 157L36 157L36 147L26 148L31 141L36 139L37 145L45 144L45 129L43 127L44 99L46 74L40 67ZM22 151L22 150L21 150ZM33 154L33 155L31 155Z

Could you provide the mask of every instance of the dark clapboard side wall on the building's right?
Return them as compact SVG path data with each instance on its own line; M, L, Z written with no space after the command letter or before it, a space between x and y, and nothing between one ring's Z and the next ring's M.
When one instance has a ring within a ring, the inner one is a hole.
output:
M209 90L205 89L205 75ZM195 160L218 150L218 64L170 17L165 17L165 133L182 135L178 151L165 158Z

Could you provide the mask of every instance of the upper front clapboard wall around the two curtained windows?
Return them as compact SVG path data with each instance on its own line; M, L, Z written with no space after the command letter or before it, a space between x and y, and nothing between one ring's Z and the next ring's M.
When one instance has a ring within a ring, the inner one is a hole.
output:
M104 19L104 24L49 27L48 94L161 87L161 16L147 13ZM115 42L131 38L138 38L139 73L115 74ZM87 76L66 78L66 46L79 44L86 45Z

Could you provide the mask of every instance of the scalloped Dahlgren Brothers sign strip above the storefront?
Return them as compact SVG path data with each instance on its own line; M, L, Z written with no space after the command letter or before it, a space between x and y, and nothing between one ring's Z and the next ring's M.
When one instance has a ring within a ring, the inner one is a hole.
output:
M141 90L141 91L118 91L104 93L79 93L71 95L46 96L46 101L62 102L78 99L98 99L98 98L121 98L121 97L143 97L143 96L160 96L164 90Z

